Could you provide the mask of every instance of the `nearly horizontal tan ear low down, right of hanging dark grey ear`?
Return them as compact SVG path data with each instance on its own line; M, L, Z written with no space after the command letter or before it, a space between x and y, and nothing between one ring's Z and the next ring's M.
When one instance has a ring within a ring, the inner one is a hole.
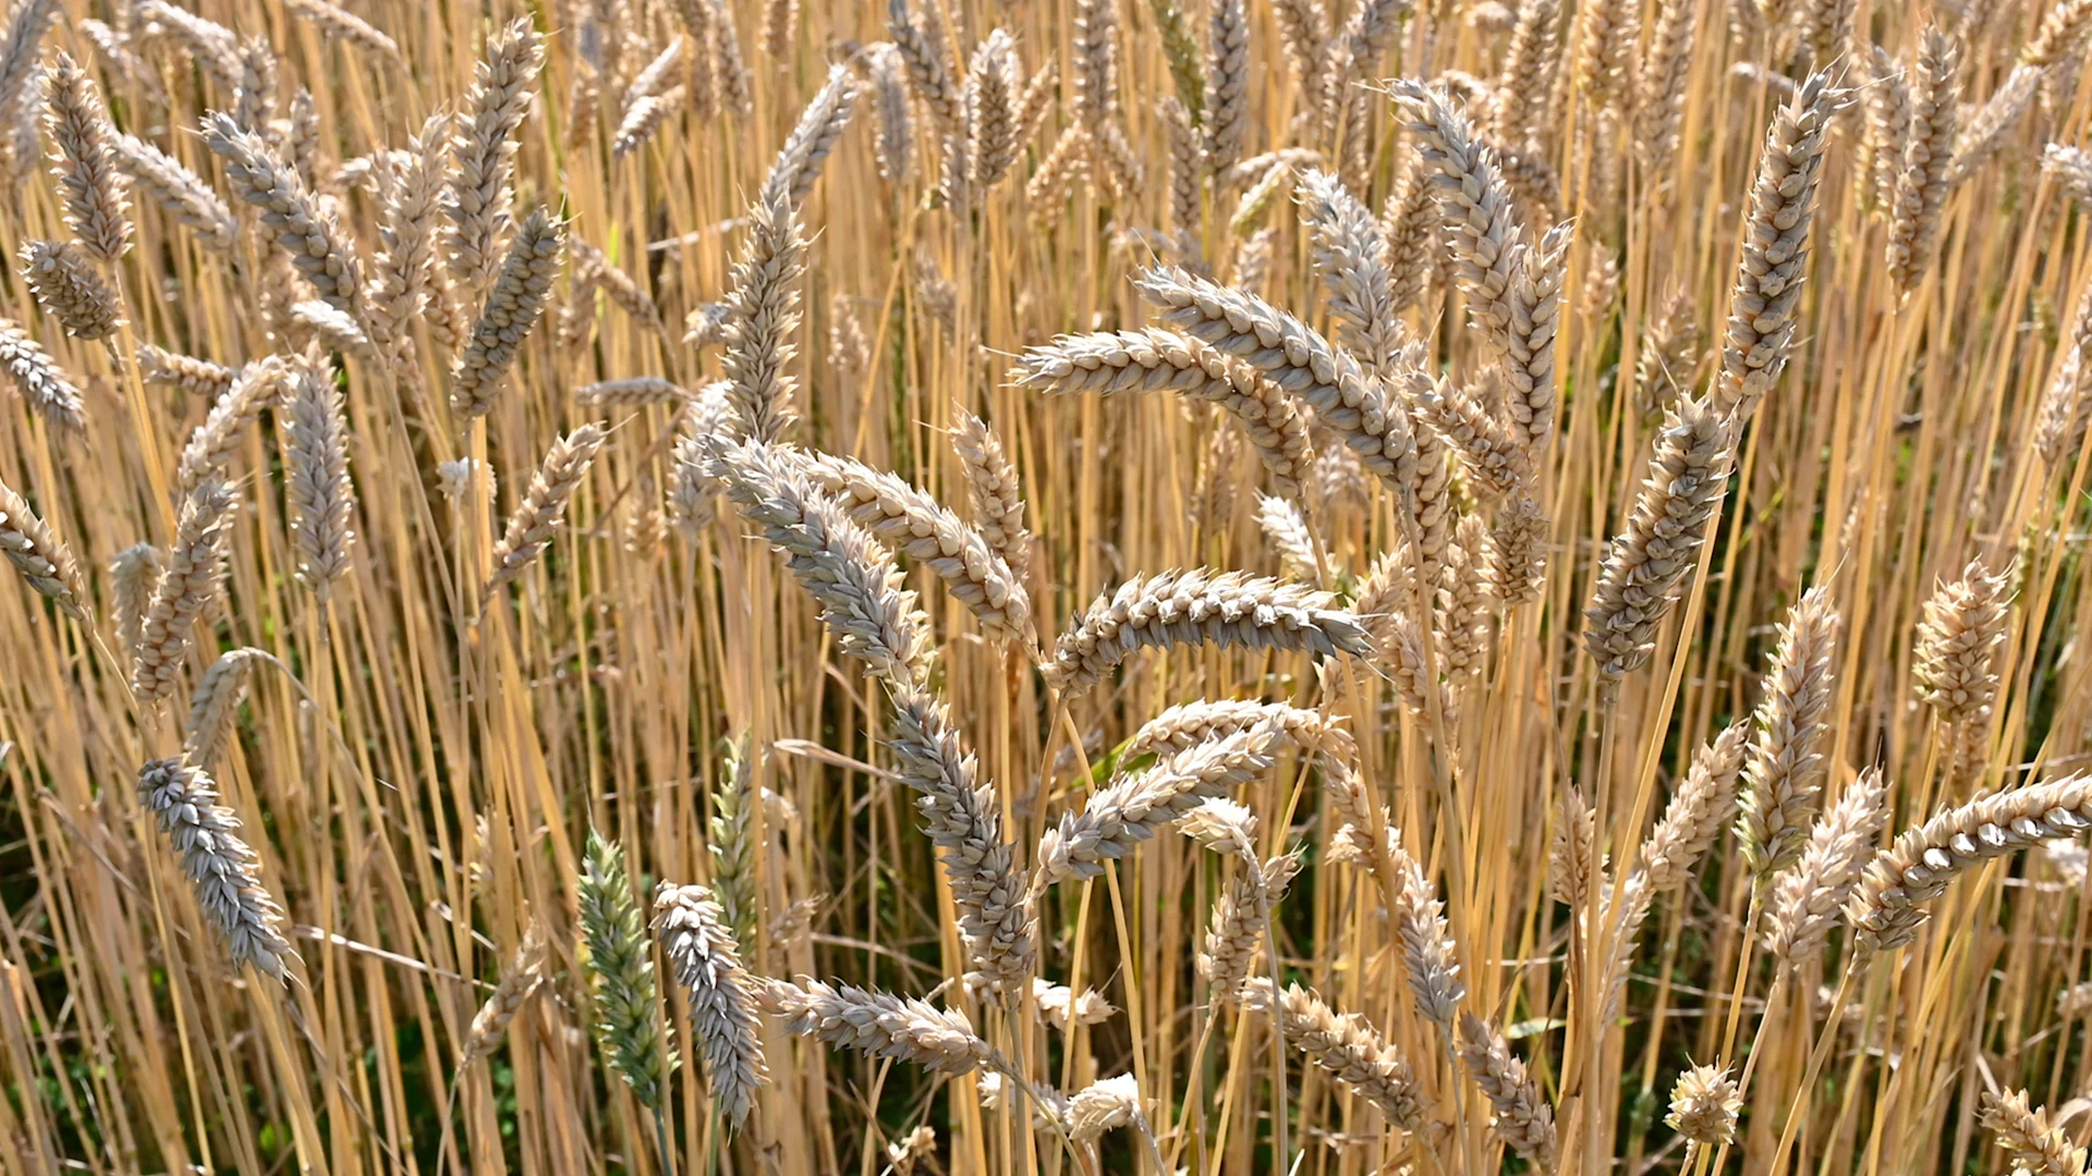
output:
M994 1059L964 1013L912 996L818 979L772 979L757 996L766 1011L789 1017L787 1032L870 1057L891 1057L952 1078L973 1073Z

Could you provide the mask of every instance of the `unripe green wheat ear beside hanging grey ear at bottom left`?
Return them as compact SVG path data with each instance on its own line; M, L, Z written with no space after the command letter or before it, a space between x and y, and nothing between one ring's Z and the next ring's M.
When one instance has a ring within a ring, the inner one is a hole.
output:
M640 1105L659 1111L678 1059L661 1023L653 942L632 902L623 850L594 829L588 831L579 904L596 992L596 1044Z

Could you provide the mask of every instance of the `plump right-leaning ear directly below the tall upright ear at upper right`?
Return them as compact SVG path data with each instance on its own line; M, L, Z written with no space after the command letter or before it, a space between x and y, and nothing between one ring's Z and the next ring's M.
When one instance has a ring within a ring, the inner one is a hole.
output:
M1584 647L1605 678L1619 680L1655 653L1657 628L1699 563L1707 519L1728 492L1732 444L1734 427L1705 398L1680 400L1663 416L1648 481L1584 609Z

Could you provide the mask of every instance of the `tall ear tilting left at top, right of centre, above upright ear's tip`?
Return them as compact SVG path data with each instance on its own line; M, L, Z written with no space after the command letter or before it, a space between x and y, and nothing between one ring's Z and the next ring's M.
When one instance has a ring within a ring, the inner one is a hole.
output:
M1517 216L1496 151L1475 136L1452 100L1418 82L1395 80L1393 96L1416 134L1431 188L1446 222L1456 274L1469 293L1469 318L1490 349L1510 349L1510 287L1519 278Z

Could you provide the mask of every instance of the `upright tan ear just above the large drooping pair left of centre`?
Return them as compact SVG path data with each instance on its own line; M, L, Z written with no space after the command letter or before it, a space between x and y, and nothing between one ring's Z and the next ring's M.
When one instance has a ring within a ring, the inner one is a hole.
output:
M749 243L734 264L726 320L726 379L732 381L736 433L776 442L797 419L795 381L784 368L799 329L799 274L805 239L782 195L749 209Z

